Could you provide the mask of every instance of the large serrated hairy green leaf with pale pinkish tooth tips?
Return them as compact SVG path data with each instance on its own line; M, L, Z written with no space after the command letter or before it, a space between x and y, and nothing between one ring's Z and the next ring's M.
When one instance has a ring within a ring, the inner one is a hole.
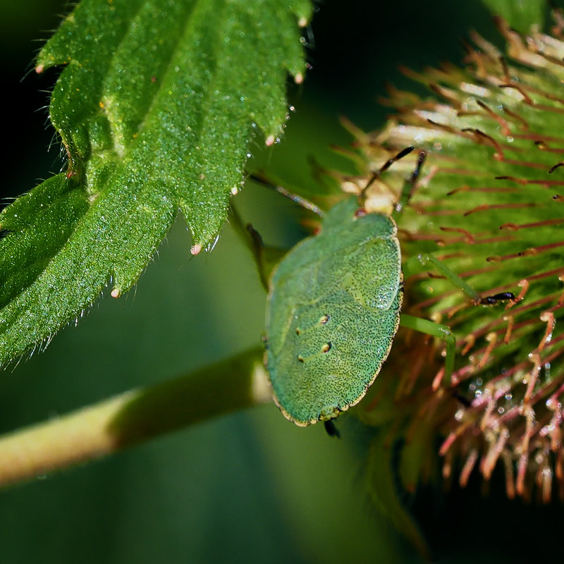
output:
M257 135L286 119L309 0L83 0L37 58L68 171L0 214L0 363L102 288L128 290L178 212L211 247Z

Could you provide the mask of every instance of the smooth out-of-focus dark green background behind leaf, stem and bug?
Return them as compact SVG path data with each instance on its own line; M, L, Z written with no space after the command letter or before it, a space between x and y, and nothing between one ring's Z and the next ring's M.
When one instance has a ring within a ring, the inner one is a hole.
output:
M497 40L478 0L379 4L317 4L308 31L312 71L300 87L290 85L295 112L285 140L254 149L288 183L311 182L309 157L334 166L330 145L350 141L339 116L367 130L384 123L387 110L375 103L384 83L413 87L400 63L417 70L460 63L460 38L472 28ZM61 168L45 108L56 72L38 77L32 60L67 10L55 0L0 0L4 197ZM266 242L290 245L304 233L295 206L275 194L249 187L237 202ZM101 298L45 353L4 372L0 432L257 345L265 295L247 250L228 226L209 255L190 259L189 249L178 221L134 290L120 300ZM0 491L1 562L419 561L369 502L362 433L354 419L341 419L338 441L321 425L300 429L264 405ZM488 501L480 487L448 499L427 492L415 507L438 560L524 560L520 539L530 537L534 522L546 543L531 551L552 560L560 507L527 507L503 496Z

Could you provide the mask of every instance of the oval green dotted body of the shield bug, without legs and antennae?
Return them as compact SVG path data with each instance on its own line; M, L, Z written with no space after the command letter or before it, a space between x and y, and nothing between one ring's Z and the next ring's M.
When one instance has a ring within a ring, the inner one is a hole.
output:
M266 319L266 367L283 415L305 426L362 399L390 352L402 290L396 224L366 214L357 197L288 252Z

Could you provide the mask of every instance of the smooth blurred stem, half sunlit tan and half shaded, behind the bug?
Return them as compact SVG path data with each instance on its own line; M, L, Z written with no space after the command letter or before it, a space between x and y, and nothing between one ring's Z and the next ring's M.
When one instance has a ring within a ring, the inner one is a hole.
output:
M0 487L271 398L262 349L0 437Z

